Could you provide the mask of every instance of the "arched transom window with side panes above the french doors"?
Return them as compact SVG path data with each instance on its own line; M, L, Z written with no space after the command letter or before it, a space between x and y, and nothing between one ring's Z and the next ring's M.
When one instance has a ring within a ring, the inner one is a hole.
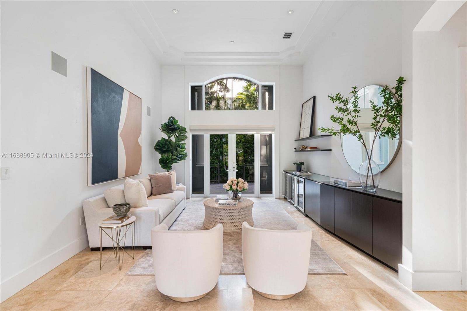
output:
M238 75L190 84L191 110L273 110L274 84Z

